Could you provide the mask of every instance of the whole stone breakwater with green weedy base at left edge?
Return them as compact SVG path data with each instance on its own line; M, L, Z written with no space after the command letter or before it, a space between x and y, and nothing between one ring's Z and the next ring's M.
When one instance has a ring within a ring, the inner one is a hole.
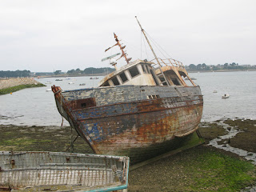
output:
M7 78L0 79L0 94L10 94L17 90L31 87L45 86L34 78Z

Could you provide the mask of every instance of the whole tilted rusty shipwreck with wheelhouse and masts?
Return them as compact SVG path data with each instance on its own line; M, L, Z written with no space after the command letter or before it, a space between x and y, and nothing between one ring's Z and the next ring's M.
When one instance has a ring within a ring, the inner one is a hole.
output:
M138 24L154 60L131 62L114 34L114 46L122 51L120 58L126 59L125 66L118 68L111 62L116 70L97 88L63 91L52 86L59 113L95 154L125 155L131 163L181 146L198 130L203 107L200 87L182 62L158 58Z

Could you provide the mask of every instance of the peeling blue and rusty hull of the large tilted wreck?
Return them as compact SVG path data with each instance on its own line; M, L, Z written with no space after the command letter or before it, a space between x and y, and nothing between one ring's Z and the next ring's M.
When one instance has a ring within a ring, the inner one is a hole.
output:
M199 86L52 90L59 113L94 153L126 155L132 164L182 146L202 118Z

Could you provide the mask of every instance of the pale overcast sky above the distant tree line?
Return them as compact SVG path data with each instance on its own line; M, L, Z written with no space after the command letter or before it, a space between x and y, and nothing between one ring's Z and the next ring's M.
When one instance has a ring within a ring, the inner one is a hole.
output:
M159 58L256 65L255 7L254 0L0 0L0 70L108 67L102 58L121 52L105 53L113 33L132 61L151 60L134 16Z

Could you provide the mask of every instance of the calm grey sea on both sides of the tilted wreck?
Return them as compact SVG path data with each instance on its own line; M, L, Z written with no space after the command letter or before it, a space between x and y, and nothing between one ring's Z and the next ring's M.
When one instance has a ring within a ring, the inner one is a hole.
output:
M190 73L190 77L197 79L194 82L201 86L204 96L202 121L256 118L256 71ZM56 78L37 79L51 84L1 95L0 125L60 126L62 117L58 114L54 94L46 90L52 85L61 86L62 90L98 86L102 78L79 77L61 82L55 81ZM79 86L81 83L86 83L86 86ZM222 98L223 94L230 94L230 98ZM64 125L69 124L65 121Z

